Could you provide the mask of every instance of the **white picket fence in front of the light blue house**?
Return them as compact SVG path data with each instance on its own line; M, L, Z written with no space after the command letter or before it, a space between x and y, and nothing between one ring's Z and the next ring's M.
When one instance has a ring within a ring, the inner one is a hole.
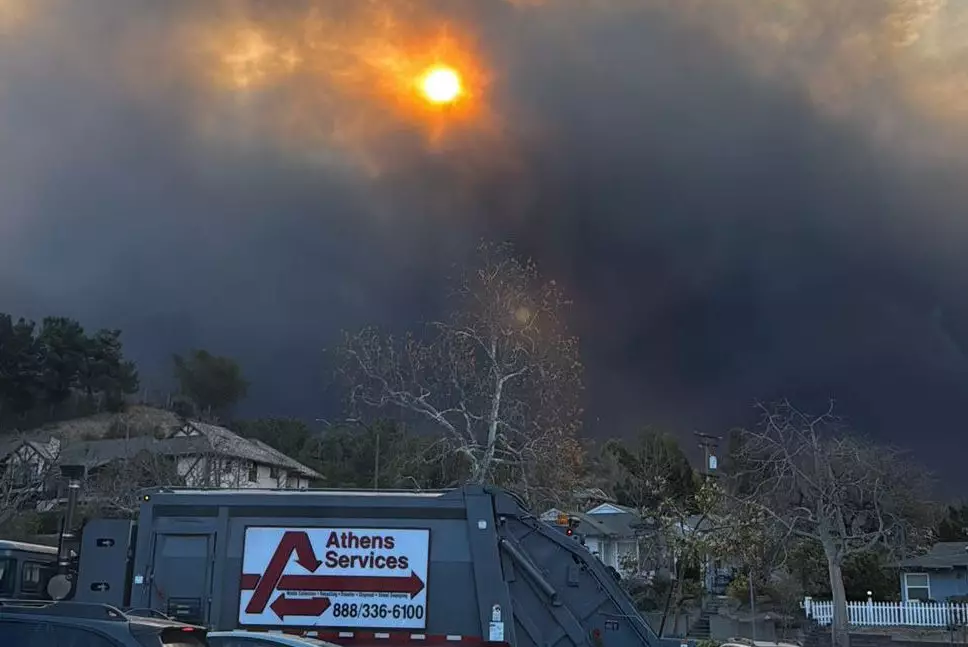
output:
M817 624L829 625L834 616L830 600L804 598L803 611ZM968 625L968 604L949 602L847 603L848 622L857 627L951 627Z

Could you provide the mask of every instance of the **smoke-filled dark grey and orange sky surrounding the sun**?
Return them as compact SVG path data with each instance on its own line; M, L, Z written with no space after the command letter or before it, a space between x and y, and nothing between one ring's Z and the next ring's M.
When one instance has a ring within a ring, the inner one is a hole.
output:
M339 331L511 239L575 298L589 433L834 397L960 485L966 135L960 0L0 0L0 310L335 417Z

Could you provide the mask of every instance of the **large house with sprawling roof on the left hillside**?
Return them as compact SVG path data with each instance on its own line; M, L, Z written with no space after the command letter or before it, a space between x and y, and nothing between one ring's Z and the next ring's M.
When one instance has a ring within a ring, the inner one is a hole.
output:
M186 421L160 409L134 409L131 416L101 416L99 425L72 421L11 437L0 444L0 470L11 478L9 483L49 494L58 465L83 466L89 478L106 474L110 466L137 466L142 480L190 487L298 489L323 478L265 443L224 427Z

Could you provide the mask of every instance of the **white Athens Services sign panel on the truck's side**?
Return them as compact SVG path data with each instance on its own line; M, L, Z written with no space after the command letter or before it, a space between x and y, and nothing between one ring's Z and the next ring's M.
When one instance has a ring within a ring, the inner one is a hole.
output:
M430 530L245 529L239 624L424 629Z

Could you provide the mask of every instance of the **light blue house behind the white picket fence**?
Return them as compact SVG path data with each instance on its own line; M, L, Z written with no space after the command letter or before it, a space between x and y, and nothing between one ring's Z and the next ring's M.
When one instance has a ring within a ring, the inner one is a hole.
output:
M905 602L968 597L968 542L942 541L898 563Z

